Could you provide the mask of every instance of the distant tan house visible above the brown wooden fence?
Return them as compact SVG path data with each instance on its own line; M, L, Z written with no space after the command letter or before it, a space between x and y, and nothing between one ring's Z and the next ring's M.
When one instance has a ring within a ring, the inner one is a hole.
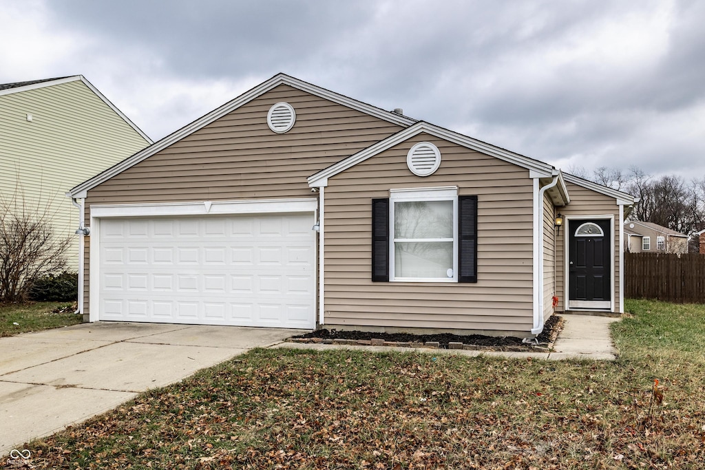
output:
M678 233L658 223L631 221L624 223L625 249L632 253L688 252L688 235Z

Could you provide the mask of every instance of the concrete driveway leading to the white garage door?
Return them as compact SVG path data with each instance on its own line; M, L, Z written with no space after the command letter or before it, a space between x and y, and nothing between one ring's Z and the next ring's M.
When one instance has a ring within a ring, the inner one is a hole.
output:
M0 455L304 330L83 323L0 338Z

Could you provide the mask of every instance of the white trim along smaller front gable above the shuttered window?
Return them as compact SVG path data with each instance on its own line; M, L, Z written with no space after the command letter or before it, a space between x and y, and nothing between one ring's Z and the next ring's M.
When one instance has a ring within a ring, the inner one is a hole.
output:
M426 132L434 137L439 137L439 139L447 140L448 142L453 142L454 144L462 145L462 147L467 147L468 149L481 151L483 154L494 156L503 161L514 163L515 165L521 166L522 168L527 168L529 171L533 171L535 174L544 177L551 176L556 171L555 168L548 165L548 163L529 159L527 156L515 154L513 151L501 149L492 144L487 144L486 142L475 140L472 137L467 137L467 135L458 134L458 132L439 128L436 125L420 121L415 125L412 125L404 130L400 130L396 134L387 137L385 140L381 140L380 142L367 147L367 149L357 152L357 154L353 156L349 156L347 159L341 160L338 163L319 171L315 175L309 176L309 186L326 186L328 185L328 178L331 178L332 176L335 176L338 173L357 165L357 163L365 161L370 157L385 151L386 149L394 147L396 144L400 144L415 135L419 135L422 132Z

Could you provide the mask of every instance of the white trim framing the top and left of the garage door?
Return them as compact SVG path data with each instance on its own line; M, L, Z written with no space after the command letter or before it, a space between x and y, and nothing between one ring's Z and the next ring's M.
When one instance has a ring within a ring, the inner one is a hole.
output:
M153 204L91 204L88 321L98 321L100 305L100 221L102 218L145 216L204 216L310 212L318 215L316 198L251 199L242 201L167 202ZM314 256L316 256L314 254ZM317 260L314 259L314 264ZM315 280L314 280L315 283Z

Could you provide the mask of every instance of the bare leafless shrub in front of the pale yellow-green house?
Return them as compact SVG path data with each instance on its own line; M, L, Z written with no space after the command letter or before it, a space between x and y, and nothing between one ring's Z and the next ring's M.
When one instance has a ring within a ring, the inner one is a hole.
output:
M42 276L66 267L71 237L56 237L49 204L28 203L16 190L0 194L0 300L25 300L27 290Z

